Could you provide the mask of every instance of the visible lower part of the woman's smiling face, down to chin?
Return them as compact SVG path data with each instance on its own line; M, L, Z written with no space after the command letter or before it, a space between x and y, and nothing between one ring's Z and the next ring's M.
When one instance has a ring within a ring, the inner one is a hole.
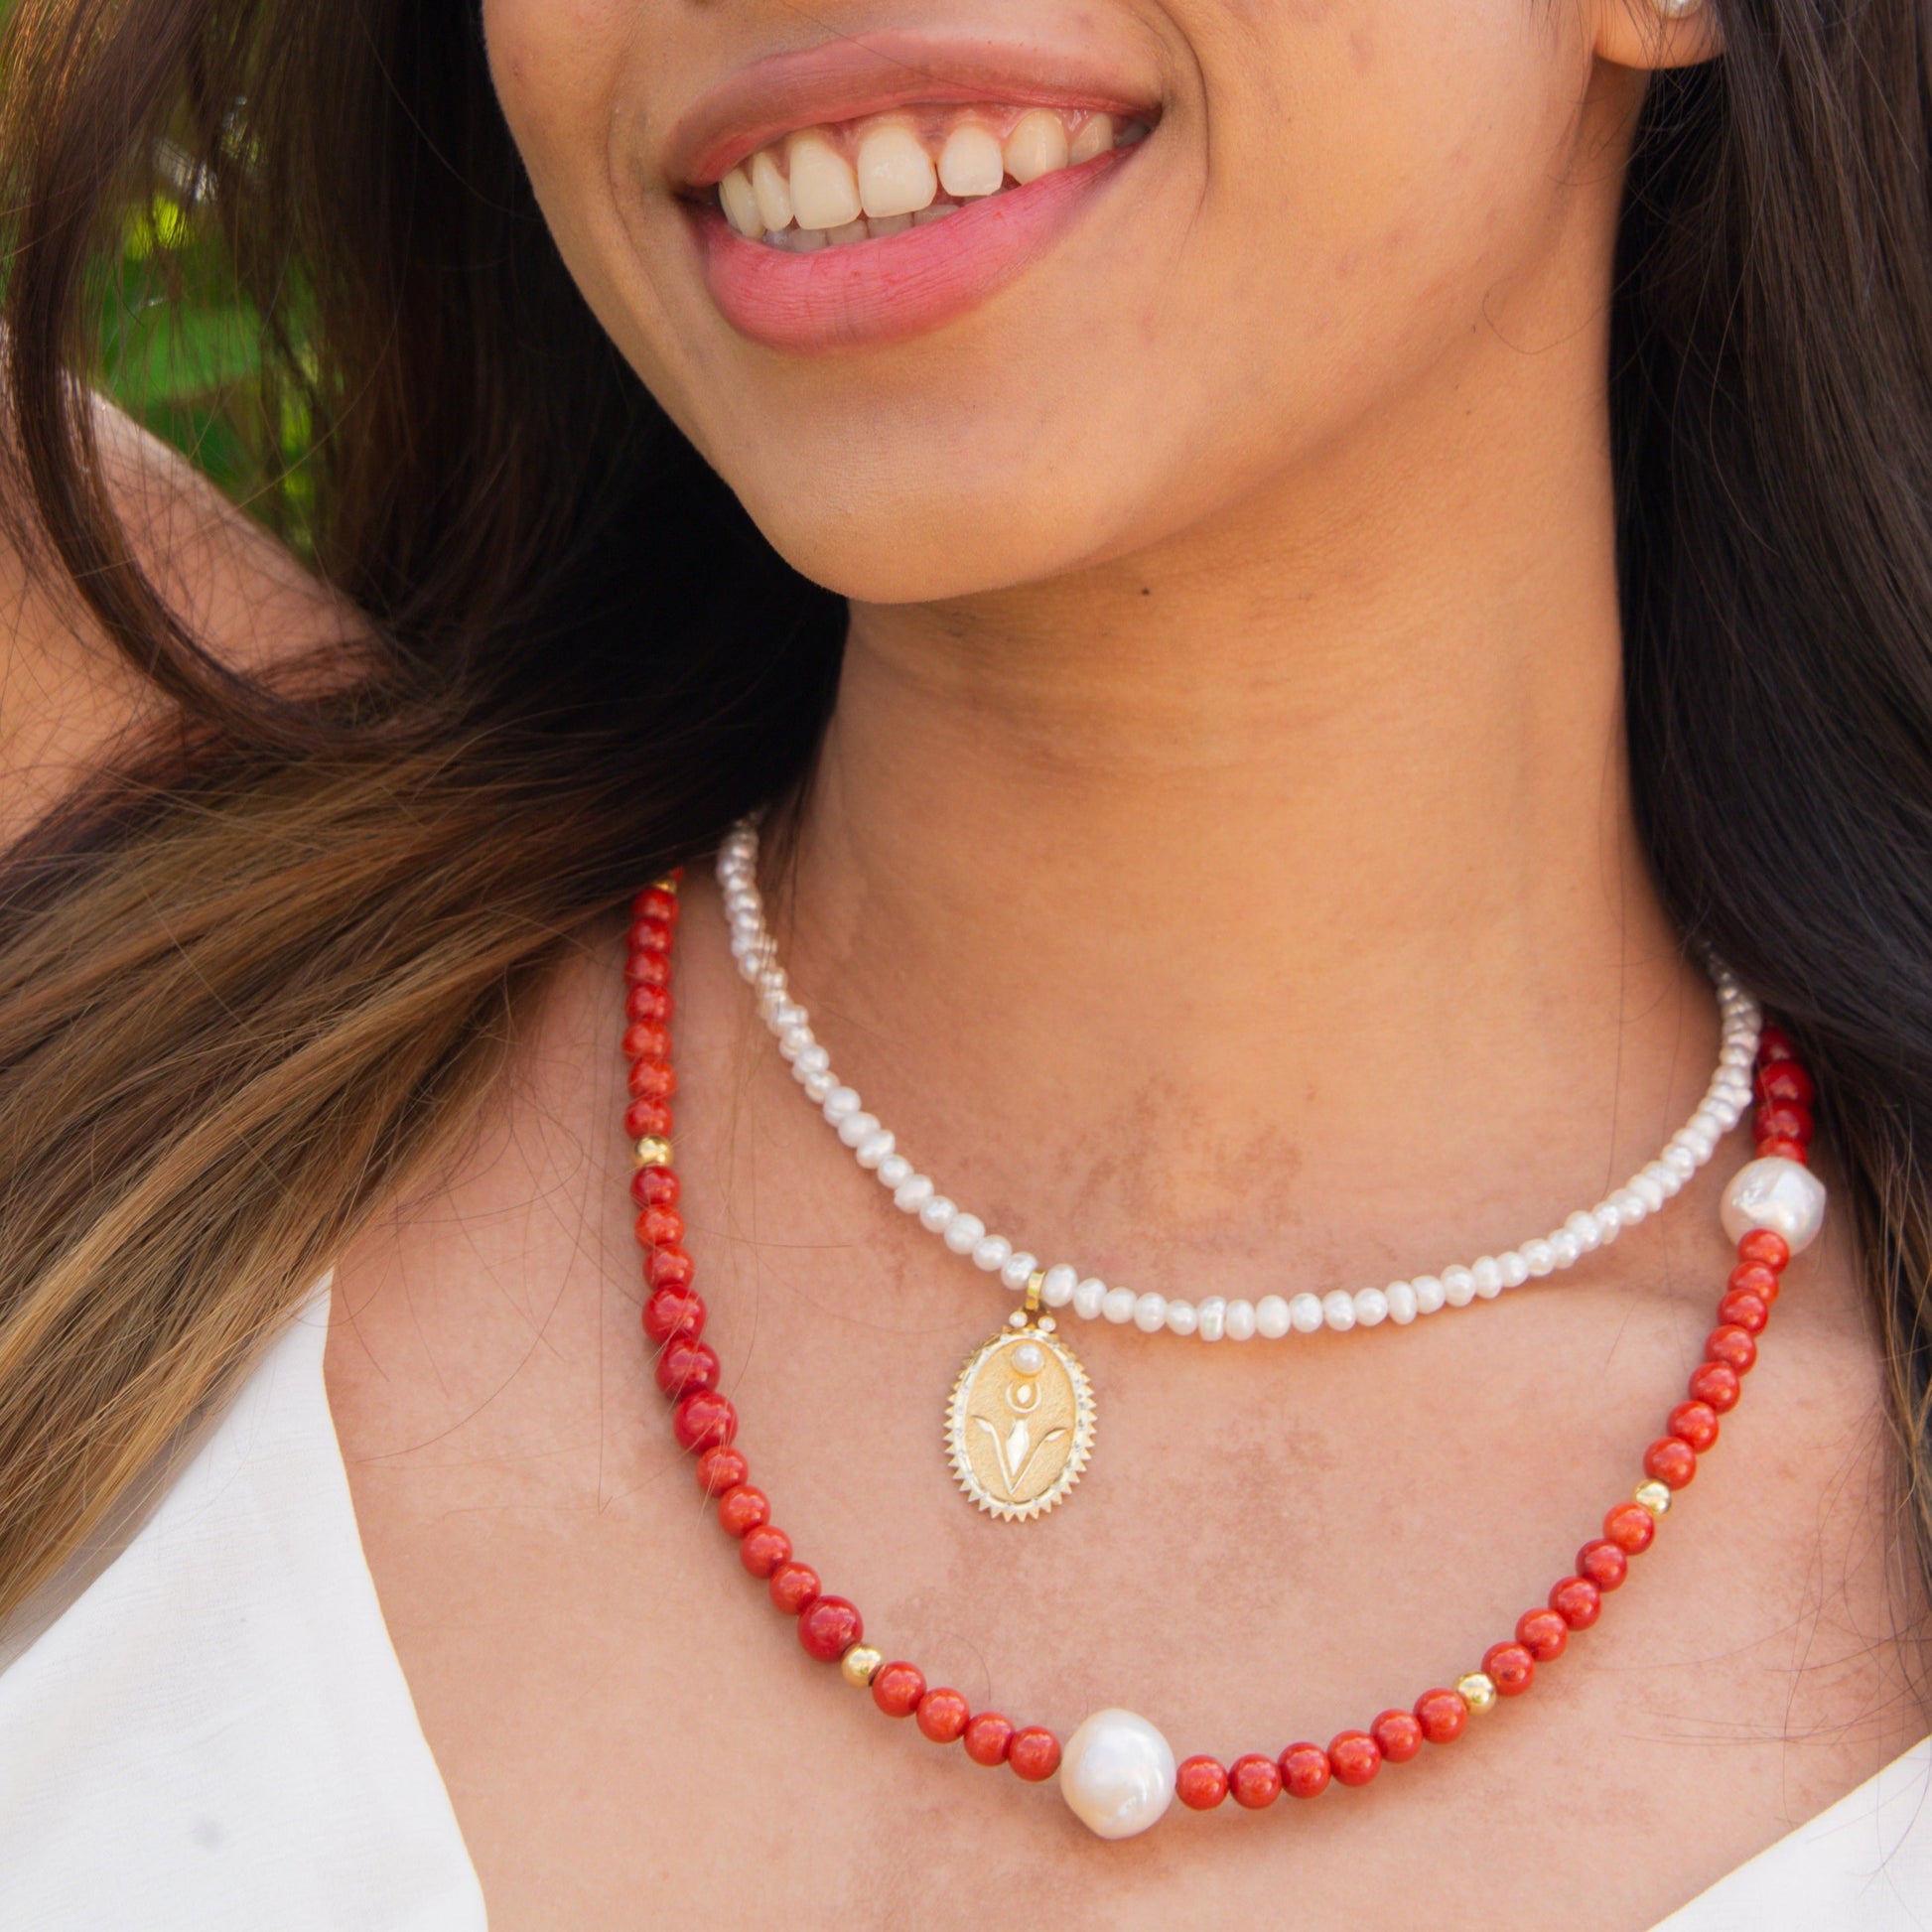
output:
M1640 100L1598 0L483 12L605 328L869 601L1227 518L1600 315Z

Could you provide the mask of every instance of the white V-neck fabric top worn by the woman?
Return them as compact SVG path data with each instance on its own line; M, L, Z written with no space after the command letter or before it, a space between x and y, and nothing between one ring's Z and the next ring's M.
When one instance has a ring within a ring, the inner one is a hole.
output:
M0 1665L6 1932L481 1932L355 1532L327 1325L325 1285ZM1932 1932L1932 1739L1658 1932Z

